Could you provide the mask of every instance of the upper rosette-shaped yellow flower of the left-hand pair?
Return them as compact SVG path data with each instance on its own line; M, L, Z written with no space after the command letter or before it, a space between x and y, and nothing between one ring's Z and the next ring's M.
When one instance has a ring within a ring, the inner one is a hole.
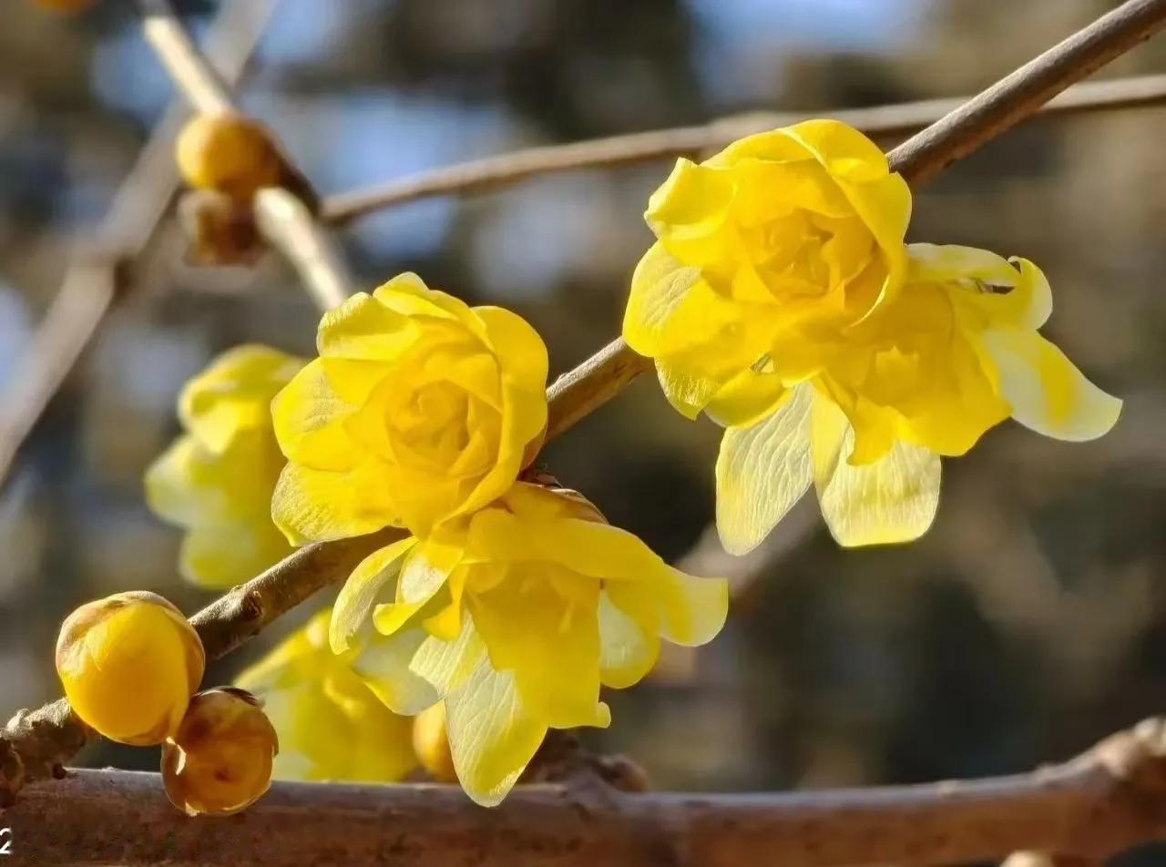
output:
M428 534L503 494L547 424L547 348L514 313L402 274L319 323L319 358L272 406L293 543Z

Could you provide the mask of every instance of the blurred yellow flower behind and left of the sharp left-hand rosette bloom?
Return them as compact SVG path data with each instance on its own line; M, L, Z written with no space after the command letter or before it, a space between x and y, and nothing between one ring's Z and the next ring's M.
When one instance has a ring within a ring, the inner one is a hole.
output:
M180 554L187 580L230 587L292 551L271 516L285 464L271 403L303 364L267 346L238 346L182 390L187 434L146 471L146 499L187 528Z

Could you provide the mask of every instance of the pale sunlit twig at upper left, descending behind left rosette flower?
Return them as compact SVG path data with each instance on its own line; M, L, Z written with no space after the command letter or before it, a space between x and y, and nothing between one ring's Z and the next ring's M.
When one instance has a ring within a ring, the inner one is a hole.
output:
M167 0L139 0L142 29L175 85L204 114L236 111L222 78L199 54L190 34ZM279 249L300 274L316 305L330 310L344 303L352 280L328 231L319 224L304 199L315 199L303 175L279 149L285 175L296 189L264 190L255 197L255 221L267 242ZM293 192L295 195L293 195Z

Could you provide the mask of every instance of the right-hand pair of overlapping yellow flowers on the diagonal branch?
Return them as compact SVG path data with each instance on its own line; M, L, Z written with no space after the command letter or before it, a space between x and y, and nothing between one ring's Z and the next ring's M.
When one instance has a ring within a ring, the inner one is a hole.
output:
M1012 417L1091 439L1121 401L1037 330L1032 262L906 245L911 195L884 154L812 120L681 160L648 203L658 242L632 279L624 338L672 404L725 428L717 527L754 548L814 484L843 545L932 523L940 456Z

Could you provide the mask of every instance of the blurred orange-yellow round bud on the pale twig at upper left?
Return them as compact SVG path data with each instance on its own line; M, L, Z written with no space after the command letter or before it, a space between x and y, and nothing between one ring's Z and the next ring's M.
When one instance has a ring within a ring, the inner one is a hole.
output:
M267 131L237 114L199 114L178 135L178 171L196 189L250 199L264 186L275 186L283 161Z

